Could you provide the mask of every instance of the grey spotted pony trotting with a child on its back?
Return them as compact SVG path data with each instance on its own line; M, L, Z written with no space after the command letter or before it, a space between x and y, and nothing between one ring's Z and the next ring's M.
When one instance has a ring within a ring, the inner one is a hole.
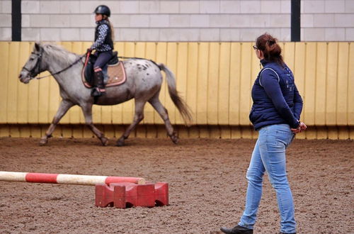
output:
M92 105L94 99L91 96L91 89L84 87L81 81L81 69L84 65L84 58L72 65L77 60L80 60L79 55L68 52L59 45L35 43L33 52L18 76L21 82L28 84L28 82L40 72L49 71L59 84L62 101L59 104L59 108L50 127L40 139L40 145L45 145L48 142L48 138L51 137L57 123L59 123L60 119L67 113L69 108L74 105L81 107L85 116L86 125L101 140L102 145L108 145L108 138L105 138L103 133L93 126ZM167 134L173 143L178 143L178 136L173 131L167 110L162 106L159 100L159 92L163 78L160 69L166 73L169 95L173 104L175 104L178 111L180 111L185 123L190 123L191 115L188 106L183 99L178 96L175 77L171 70L165 65L161 63L156 64L151 60L129 59L124 60L123 63L127 74L126 82L119 86L106 88L106 93L96 101L98 105L115 105L133 98L135 99L135 116L133 122L118 139L116 145L124 145L125 139L128 138L130 132L142 121L144 118L144 105L147 101L149 104L152 104L154 109L164 120ZM70 65L72 65L72 67L69 69L55 74Z

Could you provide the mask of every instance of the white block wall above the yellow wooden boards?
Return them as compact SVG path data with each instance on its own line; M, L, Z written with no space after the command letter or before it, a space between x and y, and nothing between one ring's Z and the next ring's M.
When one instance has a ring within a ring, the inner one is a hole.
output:
M112 11L116 40L290 40L290 0L22 0L22 40L93 40L92 11ZM354 0L302 0L302 40L354 40ZM0 40L11 40L11 1L0 0Z

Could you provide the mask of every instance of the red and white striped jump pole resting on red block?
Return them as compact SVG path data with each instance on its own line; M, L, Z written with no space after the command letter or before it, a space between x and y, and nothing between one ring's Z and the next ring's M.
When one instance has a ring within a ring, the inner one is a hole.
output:
M0 172L0 181L77 185L109 185L110 183L120 182L145 184L145 179L141 177L105 177L82 174L46 174L30 172Z

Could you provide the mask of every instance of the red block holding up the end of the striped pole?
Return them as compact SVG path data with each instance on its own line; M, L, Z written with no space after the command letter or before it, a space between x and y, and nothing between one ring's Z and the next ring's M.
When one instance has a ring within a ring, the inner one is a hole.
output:
M96 206L166 206L169 204L169 184L111 183L96 185Z

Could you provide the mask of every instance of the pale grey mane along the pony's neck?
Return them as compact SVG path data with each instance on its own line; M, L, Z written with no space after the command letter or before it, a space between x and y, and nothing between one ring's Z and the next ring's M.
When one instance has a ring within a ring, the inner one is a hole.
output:
M45 43L42 44L42 48L47 55L52 56L57 62L64 66L71 65L79 58L79 55L65 50L61 45Z

